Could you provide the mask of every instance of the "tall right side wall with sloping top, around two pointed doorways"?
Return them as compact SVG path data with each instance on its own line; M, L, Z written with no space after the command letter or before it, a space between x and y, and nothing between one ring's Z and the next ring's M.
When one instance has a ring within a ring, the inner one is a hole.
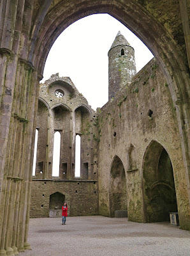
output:
M149 109L153 111L152 118L148 116ZM126 172L129 220L144 221L143 155L150 141L156 140L163 145L172 161L180 225L187 227L187 184L177 116L168 84L154 59L136 74L129 86L117 93L113 102L110 100L101 108L98 129L99 213L110 214L110 168L113 157L117 155ZM136 170L129 166L128 161L131 144L136 150Z

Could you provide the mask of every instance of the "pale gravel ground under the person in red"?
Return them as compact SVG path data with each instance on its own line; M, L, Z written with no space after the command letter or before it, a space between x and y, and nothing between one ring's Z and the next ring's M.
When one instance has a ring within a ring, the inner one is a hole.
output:
M190 232L169 223L103 216L31 219L32 250L20 256L190 256Z

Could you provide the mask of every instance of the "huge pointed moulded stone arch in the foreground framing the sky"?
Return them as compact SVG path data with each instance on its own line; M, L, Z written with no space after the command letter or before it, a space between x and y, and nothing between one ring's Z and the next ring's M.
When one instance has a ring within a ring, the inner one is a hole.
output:
M176 2L175 6L175 4L171 5L170 1L168 1L164 3L164 6L163 12L173 8L176 15L179 15L179 20L183 20L180 17L180 8L181 12L186 12L187 14L187 6L182 11L182 4L178 2ZM159 9L158 6L156 8ZM45 12L44 10L48 11ZM178 11L176 12L176 10ZM66 1L60 1L50 5L50 1L47 1L41 5L38 15L36 15L36 20L34 20L34 29L31 35L32 46L30 47L28 58L29 62L33 63L33 66L39 72L39 76L42 77L48 52L61 32L78 19L95 13L108 13L112 17L115 17L115 19L121 21L124 26L128 27L147 45L163 70L164 77L170 88L173 104L177 109L181 145L182 151L184 152L183 157L189 186L188 166L190 157L186 152L189 152L190 141L184 140L184 138L189 138L188 125L185 124L189 124L190 122L188 54L184 50L186 49L184 47L185 45L182 46L180 40L176 40L179 29L173 31L174 26L173 28L169 24L168 27L165 26L163 20L161 21L158 15L155 14L154 4L150 7L147 6L145 1L138 1L137 3L136 1L129 0L71 0L69 4ZM180 29L180 33L182 33L182 26L180 26Z

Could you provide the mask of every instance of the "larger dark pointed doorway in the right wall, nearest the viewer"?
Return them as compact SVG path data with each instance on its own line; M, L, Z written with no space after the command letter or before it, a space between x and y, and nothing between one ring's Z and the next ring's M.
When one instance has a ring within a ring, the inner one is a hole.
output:
M143 160L145 221L169 221L169 212L177 212L173 168L164 147L152 141Z

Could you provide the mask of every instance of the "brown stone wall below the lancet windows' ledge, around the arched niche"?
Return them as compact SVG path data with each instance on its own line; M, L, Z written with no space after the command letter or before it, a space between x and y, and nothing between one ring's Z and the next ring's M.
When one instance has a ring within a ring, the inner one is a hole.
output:
M93 180L33 180L30 217L48 217L50 195L56 192L65 196L68 216L98 214L98 182Z

